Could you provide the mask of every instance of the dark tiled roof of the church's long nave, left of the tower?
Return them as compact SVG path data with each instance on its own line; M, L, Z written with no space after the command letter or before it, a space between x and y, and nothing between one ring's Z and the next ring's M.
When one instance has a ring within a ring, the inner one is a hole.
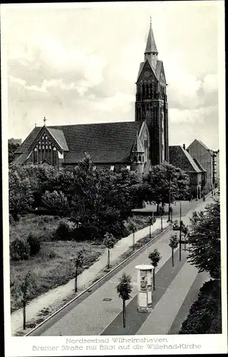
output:
M74 164L83 159L85 153L95 163L115 163L130 160L135 137L140 131L142 121L128 121L102 124L78 124L66 126L48 126L52 133L63 132L68 152L65 153L66 164ZM36 139L41 127L34 128L18 149L23 153ZM57 130L57 131L56 131ZM60 139L60 136L58 136ZM63 145L63 142L61 143ZM22 151L22 149L24 151Z

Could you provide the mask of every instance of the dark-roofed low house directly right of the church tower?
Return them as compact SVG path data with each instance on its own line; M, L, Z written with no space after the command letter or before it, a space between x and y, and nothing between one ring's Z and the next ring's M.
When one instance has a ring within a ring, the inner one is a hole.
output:
M170 164L179 167L190 177L190 191L193 198L201 198L202 191L207 181L207 172L202 168L197 159L185 150L185 145L169 147Z

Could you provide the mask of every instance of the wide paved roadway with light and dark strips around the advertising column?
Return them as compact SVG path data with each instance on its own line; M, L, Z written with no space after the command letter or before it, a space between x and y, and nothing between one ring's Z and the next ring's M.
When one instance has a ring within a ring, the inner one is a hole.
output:
M202 211L212 198L202 202L195 210ZM182 218L187 224L192 212ZM187 263L187 252L175 251L175 267L171 265L171 251L168 246L172 230L155 239L149 247L121 266L108 280L99 284L95 291L86 293L67 308L36 329L30 336L91 336L91 335L135 335L178 333L187 316L190 305L197 298L207 274L197 273ZM135 266L150 263L148 254L157 248L162 255L156 270L156 290L153 293L152 313L137 311L137 270ZM127 326L122 326L122 301L118 298L116 286L122 273L132 277L133 291L127 301ZM104 301L108 298L108 301Z

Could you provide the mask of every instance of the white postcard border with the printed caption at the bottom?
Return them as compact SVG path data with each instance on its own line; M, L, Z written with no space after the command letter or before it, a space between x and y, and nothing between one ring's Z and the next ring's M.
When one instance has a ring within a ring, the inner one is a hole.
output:
M145 2L146 3L146 2ZM111 3L111 6L125 6L125 2ZM150 4L150 3L147 3ZM9 200L8 200L8 135L7 135L7 66L6 66L6 38L4 36L4 14L6 9L16 8L42 8L48 9L49 7L56 9L66 8L89 8L90 3L83 4L7 4L1 5L1 79L2 79L2 91L1 91L1 103L2 103L2 181L3 181L3 220L4 220L4 324L5 324L5 351L7 357L26 357L26 356L88 356L89 352L83 351L32 351L32 346L61 346L66 343L66 337L12 337L11 336L11 324L10 324L10 286L9 286ZM110 3L93 3L93 7L106 7L110 6ZM221 191L221 236L222 236L222 326L223 333L221 335L174 335L174 336L143 336L147 338L166 338L167 345L172 348L167 349L148 349L144 347L142 350L133 348L133 344L130 344L130 349L123 350L118 349L118 343L115 343L117 347L116 351L113 350L100 350L93 351L90 355L104 356L104 355L137 355L137 354L196 354L196 353L226 353L227 352L227 293L226 287L226 267L227 267L227 243L226 243L226 128L225 128L225 70L224 70L224 1L218 1L218 67L219 67L219 155L220 155L220 191ZM93 336L94 339L96 336ZM97 336L101 338L102 336ZM131 336L120 336L122 338L130 338ZM132 336L136 338L136 336ZM140 338L142 336L137 336ZM70 337L68 337L70 338ZM72 338L75 338L72 336ZM83 338L80 336L78 338ZM85 336L88 338L88 336ZM105 338L105 336L103 336ZM108 336L110 340L109 344L113 344L112 336ZM201 348L175 348L175 344L187 343L191 345L201 345ZM120 343L121 344L121 343ZM143 344L143 343L142 343ZM155 342L156 345L156 342ZM108 346L108 343L107 343Z

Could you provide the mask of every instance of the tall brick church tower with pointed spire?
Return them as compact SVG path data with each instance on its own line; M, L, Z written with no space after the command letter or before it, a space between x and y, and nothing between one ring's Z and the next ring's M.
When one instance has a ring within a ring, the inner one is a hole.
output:
M144 62L140 64L136 81L135 121L147 122L152 165L169 162L167 83L163 63L157 59L157 54L150 19Z

